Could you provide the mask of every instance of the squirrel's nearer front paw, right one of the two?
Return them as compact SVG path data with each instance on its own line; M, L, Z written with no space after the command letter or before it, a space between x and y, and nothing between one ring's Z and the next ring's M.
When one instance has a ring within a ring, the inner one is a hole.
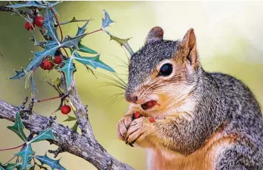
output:
M128 144L136 143L141 145L146 136L150 134L151 126L149 118L141 117L133 120L127 131L126 141Z

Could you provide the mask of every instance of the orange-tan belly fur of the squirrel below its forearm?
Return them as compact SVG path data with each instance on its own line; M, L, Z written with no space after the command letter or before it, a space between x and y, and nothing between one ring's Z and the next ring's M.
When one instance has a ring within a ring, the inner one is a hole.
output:
M148 151L148 170L212 170L217 156L237 140L237 135L224 136L219 129L204 146L188 156L183 156L164 148Z

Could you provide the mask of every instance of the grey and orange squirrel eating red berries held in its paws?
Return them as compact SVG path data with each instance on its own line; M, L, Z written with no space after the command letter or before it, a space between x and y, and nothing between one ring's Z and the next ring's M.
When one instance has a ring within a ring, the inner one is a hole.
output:
M130 57L118 138L147 150L148 170L263 169L262 112L249 87L204 71L193 28L182 40L163 36L152 28Z

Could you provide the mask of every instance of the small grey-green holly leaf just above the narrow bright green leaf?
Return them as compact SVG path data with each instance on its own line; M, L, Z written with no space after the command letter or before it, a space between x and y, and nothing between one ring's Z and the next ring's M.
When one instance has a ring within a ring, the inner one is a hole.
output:
M68 48L79 48L79 41L84 38L87 34L80 34L78 36L66 36L65 39L62 40L60 47L68 47Z

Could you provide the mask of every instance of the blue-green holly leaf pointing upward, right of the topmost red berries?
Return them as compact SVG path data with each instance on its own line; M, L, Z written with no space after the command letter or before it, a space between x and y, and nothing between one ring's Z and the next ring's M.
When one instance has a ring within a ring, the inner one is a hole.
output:
M46 28L47 30L45 35L51 36L52 39L57 41L57 43L59 44L59 37L57 36L57 31L54 26L54 20L55 20L54 15L52 14L51 10L47 7L46 17L45 17L45 20L43 21L43 27Z

